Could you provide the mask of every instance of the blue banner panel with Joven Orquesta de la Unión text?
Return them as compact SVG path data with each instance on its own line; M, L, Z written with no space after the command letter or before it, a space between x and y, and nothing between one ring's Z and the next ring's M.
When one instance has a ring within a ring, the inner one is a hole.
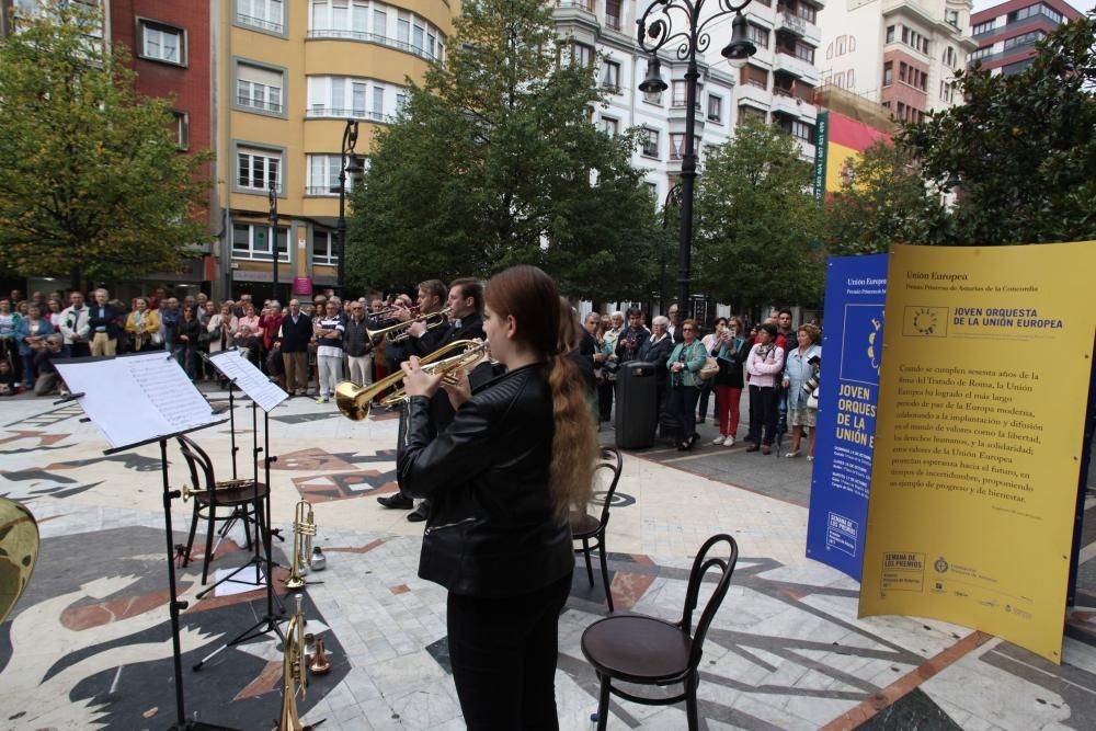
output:
M826 262L807 556L859 581L882 357L887 254Z

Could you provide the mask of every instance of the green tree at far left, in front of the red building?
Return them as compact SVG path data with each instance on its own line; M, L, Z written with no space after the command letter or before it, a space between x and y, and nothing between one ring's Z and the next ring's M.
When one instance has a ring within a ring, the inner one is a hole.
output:
M208 238L204 156L137 94L98 7L52 0L0 39L0 266L73 286L170 271Z

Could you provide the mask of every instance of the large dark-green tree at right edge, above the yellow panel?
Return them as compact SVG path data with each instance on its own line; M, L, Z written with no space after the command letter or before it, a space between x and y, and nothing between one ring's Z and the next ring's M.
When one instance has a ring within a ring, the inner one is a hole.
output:
M906 125L900 144L958 199L936 243L1096 239L1096 15L1039 42L1012 76L956 75L964 102Z

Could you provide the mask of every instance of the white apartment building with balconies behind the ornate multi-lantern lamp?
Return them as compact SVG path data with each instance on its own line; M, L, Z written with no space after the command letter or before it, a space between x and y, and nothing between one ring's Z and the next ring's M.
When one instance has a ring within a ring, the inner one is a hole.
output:
M757 54L742 69L731 67L719 54L730 41L732 15L708 26L711 44L697 59L700 80L694 149L700 174L705 159L749 115L778 123L799 139L804 157L813 156L815 112L810 94L819 80L812 65L819 31L804 16L813 16L811 11L820 5L798 2L789 10L774 7L773 0L754 0L746 16ZM559 0L555 18L560 37L572 44L576 58L593 64L601 57L597 80L608 94L606 104L594 110L594 121L610 135L631 127L642 129L642 144L632 162L647 171L646 184L663 201L681 174L688 64L677 58L677 45L669 44L659 58L670 88L661 94L638 90L650 58L636 38L636 21L646 8L636 0Z

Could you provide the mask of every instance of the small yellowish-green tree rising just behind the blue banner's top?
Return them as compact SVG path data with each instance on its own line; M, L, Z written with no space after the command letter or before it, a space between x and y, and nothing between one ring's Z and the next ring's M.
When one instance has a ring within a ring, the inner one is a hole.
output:
M871 254L892 243L936 243L947 212L906 147L879 140L846 162L826 208L824 242L834 255Z

